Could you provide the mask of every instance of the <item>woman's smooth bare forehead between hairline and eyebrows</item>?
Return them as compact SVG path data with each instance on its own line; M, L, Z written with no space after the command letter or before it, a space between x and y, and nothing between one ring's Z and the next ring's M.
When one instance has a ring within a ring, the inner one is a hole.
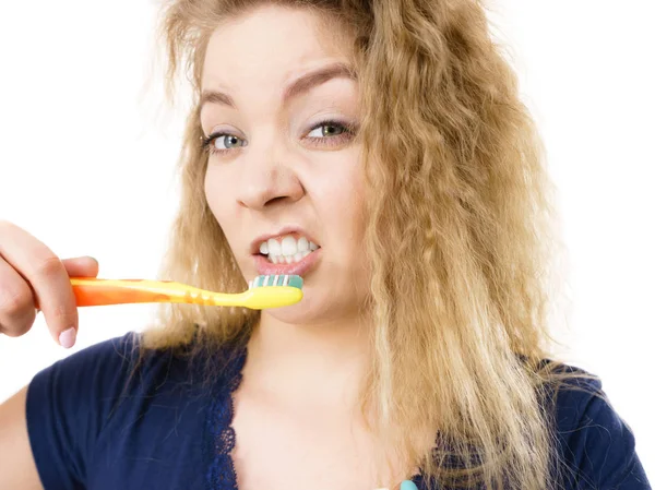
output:
M203 87L279 85L329 61L347 61L345 33L303 9L276 5L230 17L212 34L203 64Z

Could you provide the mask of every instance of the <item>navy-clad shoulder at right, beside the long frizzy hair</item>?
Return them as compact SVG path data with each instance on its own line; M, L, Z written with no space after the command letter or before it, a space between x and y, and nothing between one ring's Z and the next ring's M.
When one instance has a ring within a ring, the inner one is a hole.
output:
M555 382L548 398L559 470L583 488L650 489L635 452L635 435L612 406L600 378L564 363L551 372Z

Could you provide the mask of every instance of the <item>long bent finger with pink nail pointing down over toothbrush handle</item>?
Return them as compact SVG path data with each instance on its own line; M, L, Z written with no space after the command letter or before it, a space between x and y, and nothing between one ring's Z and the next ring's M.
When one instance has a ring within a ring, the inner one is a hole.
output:
M71 347L78 332L78 308L62 262L48 247L15 225L0 224L0 236L11 237L0 241L0 255L32 287L52 338Z

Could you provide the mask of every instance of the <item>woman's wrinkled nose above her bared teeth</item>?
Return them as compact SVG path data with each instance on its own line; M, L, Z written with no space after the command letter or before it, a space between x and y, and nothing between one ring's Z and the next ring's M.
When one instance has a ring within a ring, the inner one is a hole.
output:
M239 205L262 211L275 203L293 203L305 195L294 169L293 152L281 142L251 146L237 192Z

